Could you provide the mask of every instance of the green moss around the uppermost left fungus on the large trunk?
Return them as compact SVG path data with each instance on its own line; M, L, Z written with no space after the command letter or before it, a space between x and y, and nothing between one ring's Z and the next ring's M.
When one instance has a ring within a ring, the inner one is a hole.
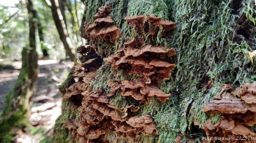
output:
M93 15L98 12L98 8L100 6L108 5L113 11L111 12L111 17L113 18L117 27L120 28L120 37L117 39L117 44L96 41L95 45L98 48L99 52L103 54L103 56L110 56L113 54L116 49L122 48L123 40L126 39L125 35L128 33L128 28L124 23L124 15L126 14L128 0L84 0L85 11L84 11L84 19L82 20L82 28L81 31L84 33L84 23L87 25L89 22L93 22L95 19ZM86 33L85 33L86 34Z

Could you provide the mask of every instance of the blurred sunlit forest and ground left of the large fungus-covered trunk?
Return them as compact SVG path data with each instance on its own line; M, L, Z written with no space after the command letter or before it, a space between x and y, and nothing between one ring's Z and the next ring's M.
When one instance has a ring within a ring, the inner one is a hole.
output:
M53 2L57 7L52 6ZM67 48L75 55L75 48L85 42L79 31L83 11L84 4L80 0L0 0L0 123L4 123L6 118L6 96L12 95L12 91L17 92L17 88L22 89L18 83L18 78L22 79L19 76L22 71L22 51L32 47L31 30L35 33L32 42L35 41L38 54L38 80L32 83L36 90L33 98L29 99L32 102L29 126L32 127L26 132L23 128L17 128L12 132L15 133L13 137L7 131L16 123L1 125L1 143L9 143L10 140L15 143L48 143L51 140L55 120L61 114L61 94L57 87L67 77L74 61ZM54 12L59 18L55 16L56 21ZM29 22L34 23L35 27L30 28ZM58 29L58 22L62 22L64 29ZM63 36L68 45L61 39ZM33 61L37 59L32 58L29 62ZM22 122L22 117L18 118Z

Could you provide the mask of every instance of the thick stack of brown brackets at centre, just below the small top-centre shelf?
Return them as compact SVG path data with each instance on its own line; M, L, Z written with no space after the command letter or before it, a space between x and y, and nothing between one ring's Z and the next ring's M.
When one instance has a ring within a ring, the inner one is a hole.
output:
M130 74L150 76L155 79L169 79L175 64L170 64L164 57L175 55L174 49L164 50L163 46L146 45L140 49L124 48L116 55L104 61L116 69L123 69ZM148 57L151 57L150 59Z

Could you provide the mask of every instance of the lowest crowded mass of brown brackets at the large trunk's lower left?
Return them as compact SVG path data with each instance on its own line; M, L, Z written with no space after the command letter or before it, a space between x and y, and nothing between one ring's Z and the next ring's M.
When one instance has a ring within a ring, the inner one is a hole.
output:
M85 80L76 83L87 83ZM143 86L143 82L141 84ZM94 140L105 135L107 130L112 130L119 137L136 137L141 133L157 134L156 125L150 115L138 118L131 114L131 112L137 112L139 107L129 105L117 108L110 103L108 94L101 89L91 91L87 88L80 94L84 95L84 98L82 105L78 108L79 118L63 122L65 127L72 130L77 138L81 139L82 136L83 140L93 143Z

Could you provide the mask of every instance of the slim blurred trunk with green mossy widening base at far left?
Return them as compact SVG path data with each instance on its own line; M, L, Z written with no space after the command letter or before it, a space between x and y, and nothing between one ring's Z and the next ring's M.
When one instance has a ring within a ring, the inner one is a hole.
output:
M9 143L12 140L11 129L24 128L29 125L30 101L35 93L38 74L38 54L36 53L36 17L32 14L32 1L28 0L29 14L29 47L23 48L22 67L15 87L6 96L2 120L0 122L0 141Z

